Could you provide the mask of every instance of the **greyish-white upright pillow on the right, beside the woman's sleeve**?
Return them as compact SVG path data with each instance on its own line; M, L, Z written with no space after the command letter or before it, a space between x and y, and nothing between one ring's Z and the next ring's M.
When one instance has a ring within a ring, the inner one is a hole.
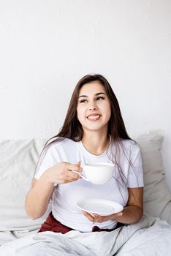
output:
M137 138L144 172L144 211L171 224L171 194L167 187L161 157L163 136L149 132Z

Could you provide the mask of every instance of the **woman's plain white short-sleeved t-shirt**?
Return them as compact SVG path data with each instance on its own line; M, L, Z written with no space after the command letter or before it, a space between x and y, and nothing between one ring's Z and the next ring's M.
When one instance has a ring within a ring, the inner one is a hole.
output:
M143 187L140 148L133 140L122 140L122 144L124 150L121 149L121 157L118 162L121 165L126 184L123 184L122 179L119 178L117 165L114 167L113 178L106 184L91 184L91 182L85 181L83 178L67 184L58 184L53 192L52 213L59 222L81 232L91 232L94 223L90 222L83 215L82 211L77 208L78 201L86 198L100 198L114 200L121 203L124 207L128 200L127 187ZM124 154L123 151L125 152ZM110 143L107 151L96 156L89 153L81 141L75 142L73 140L64 139L53 143L47 148L47 151L43 154L38 165L35 178L39 179L45 170L59 162L69 162L71 164L81 162L81 165L87 162L113 163L111 157L116 155L117 152L115 143ZM130 161L132 165L130 165ZM116 222L112 220L102 223L96 222L96 226L99 228L112 229L115 225Z

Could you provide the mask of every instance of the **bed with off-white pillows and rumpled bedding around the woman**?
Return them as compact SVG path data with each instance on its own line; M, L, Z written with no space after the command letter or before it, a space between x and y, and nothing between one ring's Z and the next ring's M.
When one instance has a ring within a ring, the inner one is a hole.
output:
M34 177L37 159L45 140L0 141L0 255L31 255L41 244L42 255L171 255L171 194L165 181L161 157L163 135L149 132L137 142L142 152L144 171L144 214L140 222L119 227L113 232L65 235L43 232L43 217L29 219L24 210L26 193ZM44 245L47 245L44 248Z

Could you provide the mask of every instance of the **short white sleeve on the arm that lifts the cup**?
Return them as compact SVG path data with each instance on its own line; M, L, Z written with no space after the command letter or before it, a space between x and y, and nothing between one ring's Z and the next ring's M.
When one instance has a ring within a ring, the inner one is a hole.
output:
M45 148L42 152L34 178L39 179L42 174L45 173L48 168L53 167L53 165L56 165L56 157L53 153L53 146L50 146L49 148Z

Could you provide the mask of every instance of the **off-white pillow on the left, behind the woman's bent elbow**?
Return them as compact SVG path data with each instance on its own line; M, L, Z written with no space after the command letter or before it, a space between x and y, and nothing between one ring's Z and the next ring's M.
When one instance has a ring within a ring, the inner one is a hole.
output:
M45 140L0 141L0 231L36 230L47 217L29 219L24 209Z

